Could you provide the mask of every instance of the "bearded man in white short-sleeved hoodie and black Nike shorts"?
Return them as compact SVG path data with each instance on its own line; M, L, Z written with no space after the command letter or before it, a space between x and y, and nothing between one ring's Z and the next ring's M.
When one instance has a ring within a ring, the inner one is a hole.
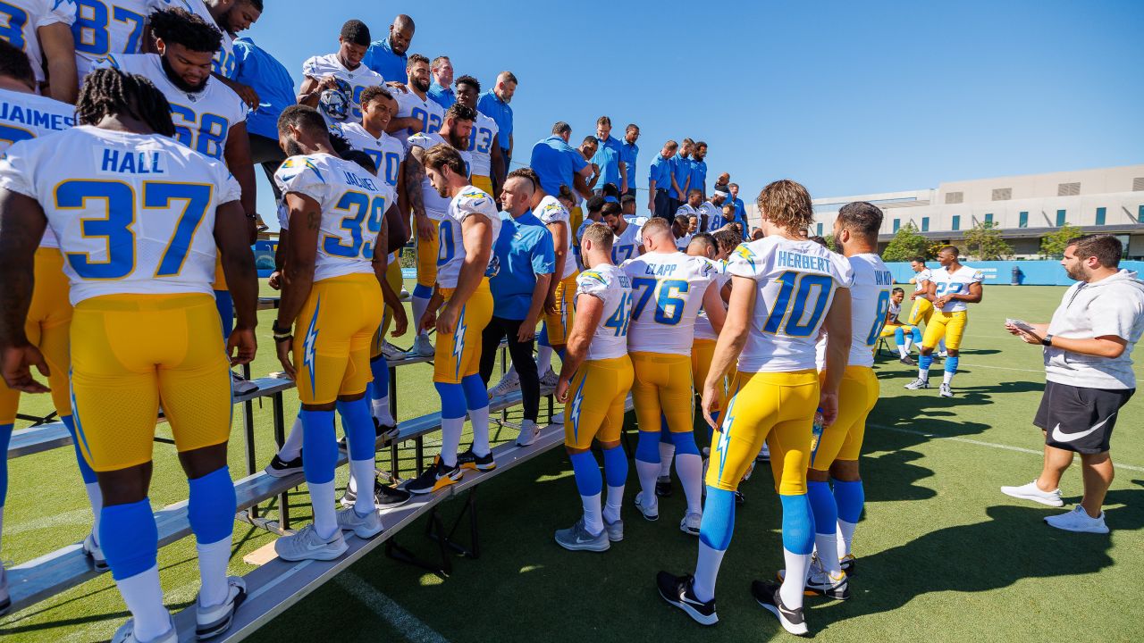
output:
M1119 269L1121 249L1112 235L1071 240L1060 264L1078 284L1065 293L1052 322L1006 323L1026 343L1046 347L1044 397L1033 420L1044 431L1044 467L1035 481L1001 492L1060 507L1060 476L1080 453L1081 503L1044 518L1067 531L1109 533L1101 510L1113 476L1109 442L1117 413L1136 392L1131 354L1144 334L1144 283Z

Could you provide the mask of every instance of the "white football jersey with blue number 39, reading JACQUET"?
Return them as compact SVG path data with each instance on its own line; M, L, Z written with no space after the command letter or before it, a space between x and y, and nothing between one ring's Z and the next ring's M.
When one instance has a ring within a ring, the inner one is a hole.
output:
M373 275L373 251L395 200L394 189L356 162L331 154L291 157L275 173L283 195L310 197L321 206L313 280Z

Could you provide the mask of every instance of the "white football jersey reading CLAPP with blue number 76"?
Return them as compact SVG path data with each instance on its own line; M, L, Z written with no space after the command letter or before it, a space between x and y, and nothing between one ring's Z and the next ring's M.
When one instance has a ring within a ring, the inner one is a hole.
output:
M621 268L631 278L628 348L691 355L696 316L718 271L715 262L683 253L648 253Z

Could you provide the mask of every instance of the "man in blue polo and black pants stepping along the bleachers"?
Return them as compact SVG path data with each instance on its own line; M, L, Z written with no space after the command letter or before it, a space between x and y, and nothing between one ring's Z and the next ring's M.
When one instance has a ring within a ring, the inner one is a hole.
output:
M508 352L514 371L488 392L507 395L521 388L524 421L516 442L527 446L537 440L540 429L540 376L532 358L537 323L543 312L548 284L556 268L553 235L530 211L535 185L519 170L509 174L501 190L505 212L500 213L500 235L493 241L496 273L488 280L493 293L493 317L482 335L480 379L488 387L493 374L496 347L508 338Z

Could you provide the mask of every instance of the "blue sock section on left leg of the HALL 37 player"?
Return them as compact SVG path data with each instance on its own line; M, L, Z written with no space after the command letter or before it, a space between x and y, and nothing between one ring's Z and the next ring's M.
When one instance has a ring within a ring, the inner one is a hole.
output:
M129 505L104 507L100 517L100 545L111 567L111 578L116 580L153 567L159 556L159 527L151 514L151 502L144 498Z

